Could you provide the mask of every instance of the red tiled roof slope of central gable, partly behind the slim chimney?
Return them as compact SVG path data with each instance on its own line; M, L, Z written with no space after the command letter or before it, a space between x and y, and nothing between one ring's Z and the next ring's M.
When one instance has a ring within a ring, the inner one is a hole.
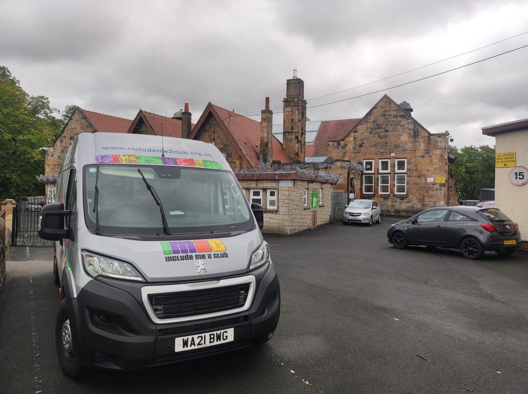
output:
M225 127L231 132L231 135L238 142L240 148L246 153L253 167L259 164L260 153L260 122L249 119L236 112L229 111L218 105L212 104L214 110L225 124ZM273 160L280 160L283 163L289 163L291 160L286 155L279 140L273 136Z

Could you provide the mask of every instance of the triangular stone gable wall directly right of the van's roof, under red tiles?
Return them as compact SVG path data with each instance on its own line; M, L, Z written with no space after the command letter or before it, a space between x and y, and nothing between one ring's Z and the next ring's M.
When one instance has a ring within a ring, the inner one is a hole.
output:
M214 139L214 145L225 155L234 172L250 169L214 117L210 116L202 123L194 139L208 143L213 143Z

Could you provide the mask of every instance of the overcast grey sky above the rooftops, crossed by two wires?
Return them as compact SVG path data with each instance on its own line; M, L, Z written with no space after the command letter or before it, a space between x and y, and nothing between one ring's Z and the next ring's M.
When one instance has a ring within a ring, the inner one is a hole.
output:
M324 98L528 31L525 1L0 0L0 64L33 95L133 119L193 122L211 101L279 107L293 70L310 105L383 90L528 44L528 34ZM528 47L362 98L308 109L311 120L361 118L387 93L454 145L494 145L480 128L528 118ZM260 121L260 116L252 117ZM274 123L282 122L276 113Z

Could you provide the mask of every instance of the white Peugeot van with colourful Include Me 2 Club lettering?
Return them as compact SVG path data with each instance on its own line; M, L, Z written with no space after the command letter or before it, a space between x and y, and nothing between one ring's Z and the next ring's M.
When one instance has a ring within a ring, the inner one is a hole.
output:
M262 207L249 207L213 145L82 133L64 157L57 198L42 208L39 235L56 241L55 342L69 377L194 359L274 334L280 287Z

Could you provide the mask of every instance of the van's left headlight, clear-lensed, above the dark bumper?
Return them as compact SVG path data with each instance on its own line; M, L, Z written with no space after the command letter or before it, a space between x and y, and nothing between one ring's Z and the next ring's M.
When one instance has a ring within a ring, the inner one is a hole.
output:
M82 251L81 253L84 268L86 268L88 274L93 277L102 275L117 279L126 279L128 281L145 281L141 274L137 272L136 268L130 263L85 251Z

